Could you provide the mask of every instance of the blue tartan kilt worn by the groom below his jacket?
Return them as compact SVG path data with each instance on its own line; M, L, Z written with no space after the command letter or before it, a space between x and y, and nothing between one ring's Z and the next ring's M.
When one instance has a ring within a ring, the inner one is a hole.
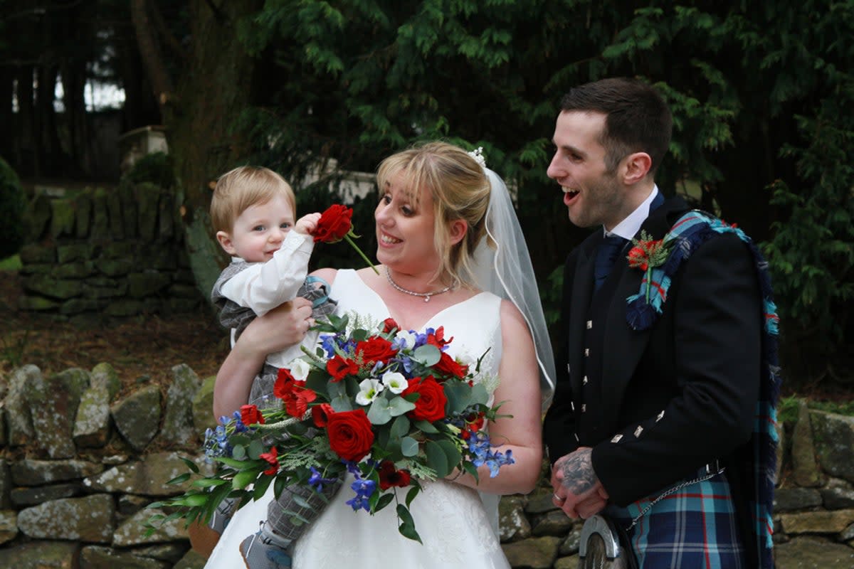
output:
M686 481L707 475L703 467L698 476L688 477ZM650 502L679 484L626 508L608 506L604 514L629 528ZM664 496L637 520L628 534L640 569L747 567L732 493L723 472Z

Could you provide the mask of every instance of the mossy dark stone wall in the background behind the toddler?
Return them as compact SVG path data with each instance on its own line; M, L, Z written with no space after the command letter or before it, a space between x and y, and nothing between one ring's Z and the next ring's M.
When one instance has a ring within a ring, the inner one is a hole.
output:
M61 316L191 311L202 303L171 190L37 190L20 251L20 308Z

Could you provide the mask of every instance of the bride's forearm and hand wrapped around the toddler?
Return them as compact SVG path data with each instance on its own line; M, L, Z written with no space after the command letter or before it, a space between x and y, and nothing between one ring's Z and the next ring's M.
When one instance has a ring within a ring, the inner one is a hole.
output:
M231 348L213 384L213 416L219 421L249 401L249 390L268 353L284 350L302 340L312 305L294 299L249 322Z

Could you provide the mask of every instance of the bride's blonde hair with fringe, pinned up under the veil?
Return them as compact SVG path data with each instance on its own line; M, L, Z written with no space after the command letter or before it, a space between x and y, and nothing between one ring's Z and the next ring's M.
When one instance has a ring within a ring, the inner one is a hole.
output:
M433 242L442 259L434 278L442 280L447 276L464 287L474 287L471 259L483 238L489 206L490 186L483 166L453 144L428 142L383 160L377 170L381 194L398 174L402 175L412 206L418 207L418 189L429 189L433 197ZM468 228L465 237L452 245L449 228L458 219L465 221Z

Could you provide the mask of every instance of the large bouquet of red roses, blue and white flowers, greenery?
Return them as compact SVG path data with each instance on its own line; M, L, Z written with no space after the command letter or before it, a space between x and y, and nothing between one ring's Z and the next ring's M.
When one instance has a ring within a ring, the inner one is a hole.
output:
M291 485L319 491L351 473L354 494L347 503L373 514L395 502L399 531L420 542L409 506L423 481L454 469L477 479L483 464L494 477L512 464L512 451L496 450L483 431L484 421L500 416L500 404L488 404L486 385L495 378L480 376L486 354L461 363L447 354L453 338L445 339L442 328L406 332L390 318L366 329L333 315L318 328L316 351L303 348L306 355L278 374L274 394L281 405L244 405L223 417L204 445L219 463L216 473L153 507L175 507L169 518L189 524L208 520L226 497L247 503L271 484L276 496ZM402 500L399 488L406 489ZM305 521L291 514L293 523Z

